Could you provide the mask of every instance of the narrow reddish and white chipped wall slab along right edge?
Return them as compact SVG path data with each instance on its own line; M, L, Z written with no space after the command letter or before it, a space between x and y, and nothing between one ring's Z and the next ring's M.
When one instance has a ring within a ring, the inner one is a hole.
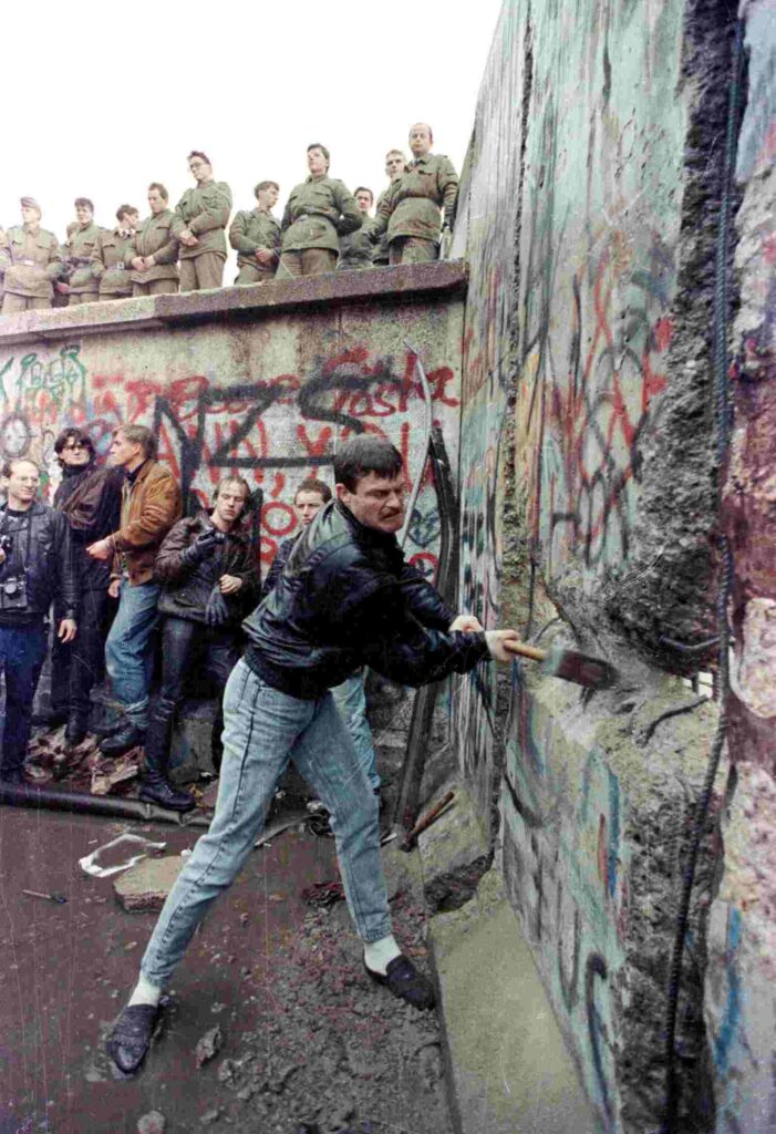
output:
M706 983L719 1132L776 1128L776 5L743 9L749 90L736 167L740 306L725 484L735 775Z

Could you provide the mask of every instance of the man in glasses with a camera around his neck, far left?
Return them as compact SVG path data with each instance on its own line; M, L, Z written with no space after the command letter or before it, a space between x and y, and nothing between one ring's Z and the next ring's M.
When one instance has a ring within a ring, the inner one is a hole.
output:
M67 519L35 499L39 466L15 457L3 465L2 477L8 499L0 508L0 667L6 675L0 780L24 784L45 618L54 600L63 615L58 637L75 638L77 585Z

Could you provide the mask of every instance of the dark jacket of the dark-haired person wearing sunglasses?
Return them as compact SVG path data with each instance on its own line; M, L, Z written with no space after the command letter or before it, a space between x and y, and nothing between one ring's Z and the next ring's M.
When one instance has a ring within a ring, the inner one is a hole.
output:
M85 591L106 591L110 584L110 564L87 556L86 548L118 526L122 480L119 468L70 465L54 492L54 508L70 525L78 581Z

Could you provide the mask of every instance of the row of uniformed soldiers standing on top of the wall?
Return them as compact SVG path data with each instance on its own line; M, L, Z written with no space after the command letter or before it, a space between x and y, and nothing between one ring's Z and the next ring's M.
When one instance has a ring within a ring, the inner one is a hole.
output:
M309 145L309 175L291 191L282 220L272 212L280 186L264 180L254 189L256 208L238 212L229 227L234 282L436 260L452 229L458 175L449 158L432 153L433 141L430 126L417 122L409 134L412 159L389 151L389 186L374 217L372 189L351 194L329 176L329 150ZM93 202L77 197L61 246L41 228L37 201L22 197L22 225L0 230L2 313L221 287L231 191L214 179L205 153L191 151L187 160L196 184L174 210L165 187L152 181L150 215L140 221L137 209L122 204L117 226L105 229L94 221Z

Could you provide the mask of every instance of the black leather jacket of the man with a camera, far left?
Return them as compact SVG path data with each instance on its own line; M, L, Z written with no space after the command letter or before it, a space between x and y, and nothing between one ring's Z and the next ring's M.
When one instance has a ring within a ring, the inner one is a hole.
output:
M0 508L0 528L5 526L6 505ZM44 618L53 599L62 618L75 618L78 606L77 570L74 562L70 525L61 513L36 500L29 507L29 558L27 531L19 534L26 560L27 604L24 613ZM0 566L0 582L5 575Z

